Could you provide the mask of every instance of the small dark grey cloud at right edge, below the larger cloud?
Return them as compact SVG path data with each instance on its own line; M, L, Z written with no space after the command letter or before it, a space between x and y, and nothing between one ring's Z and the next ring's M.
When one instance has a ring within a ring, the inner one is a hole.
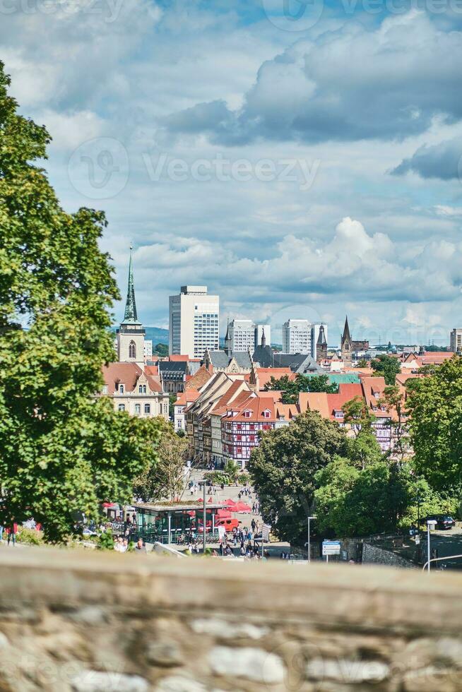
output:
M422 145L413 156L404 159L391 173L405 175L413 172L425 179L461 179L461 160L462 137L456 137L432 146Z

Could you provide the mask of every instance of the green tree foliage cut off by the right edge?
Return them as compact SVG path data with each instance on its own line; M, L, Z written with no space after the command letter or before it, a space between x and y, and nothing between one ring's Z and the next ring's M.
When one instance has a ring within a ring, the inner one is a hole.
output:
M462 487L462 357L433 375L416 378L408 390L410 441L417 472L437 490Z

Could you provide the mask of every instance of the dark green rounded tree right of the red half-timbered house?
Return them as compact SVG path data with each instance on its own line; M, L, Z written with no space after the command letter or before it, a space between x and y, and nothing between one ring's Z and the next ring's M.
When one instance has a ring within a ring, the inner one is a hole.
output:
M263 519L271 523L280 539L303 539L307 514L313 509L314 475L347 448L344 431L314 411L261 436L248 468Z

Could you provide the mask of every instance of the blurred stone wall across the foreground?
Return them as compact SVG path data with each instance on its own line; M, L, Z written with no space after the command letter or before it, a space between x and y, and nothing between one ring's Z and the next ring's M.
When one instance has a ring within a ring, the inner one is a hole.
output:
M0 549L0 690L462 690L462 575Z

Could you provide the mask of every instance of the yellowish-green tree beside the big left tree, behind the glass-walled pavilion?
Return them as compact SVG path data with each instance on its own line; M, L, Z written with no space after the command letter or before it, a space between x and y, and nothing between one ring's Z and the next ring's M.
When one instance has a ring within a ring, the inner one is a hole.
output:
M186 487L184 467L189 455L187 437L179 437L171 423L159 419L162 435L153 463L134 482L134 495L143 502L174 501Z

